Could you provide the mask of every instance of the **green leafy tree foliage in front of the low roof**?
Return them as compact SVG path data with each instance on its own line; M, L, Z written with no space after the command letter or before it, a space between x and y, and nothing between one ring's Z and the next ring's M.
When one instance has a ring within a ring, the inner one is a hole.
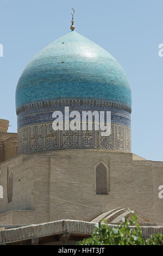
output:
M114 228L110 228L107 221L103 221L104 224L96 224L91 237L78 242L77 245L163 245L161 233L151 235L148 239L142 237L140 225L134 214L131 215L130 221L122 218L122 222Z

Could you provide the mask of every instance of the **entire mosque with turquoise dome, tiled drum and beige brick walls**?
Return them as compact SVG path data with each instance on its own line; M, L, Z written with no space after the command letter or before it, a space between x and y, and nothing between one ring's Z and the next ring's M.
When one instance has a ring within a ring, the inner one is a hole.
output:
M65 106L81 114L110 111L111 134L101 136L95 125L92 131L54 131L53 112ZM0 119L0 243L79 240L103 218L110 224L129 218L128 209L145 230L162 228L163 162L131 153L126 73L109 52L74 31L73 19L71 32L22 72L16 113L17 133L8 133L9 121ZM18 238L20 230L25 235Z

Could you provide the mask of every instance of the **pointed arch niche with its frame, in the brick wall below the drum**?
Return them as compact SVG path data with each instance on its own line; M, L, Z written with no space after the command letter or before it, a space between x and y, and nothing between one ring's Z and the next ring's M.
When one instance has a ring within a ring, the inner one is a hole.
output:
M109 167L103 161L95 164L95 191L96 194L109 193Z

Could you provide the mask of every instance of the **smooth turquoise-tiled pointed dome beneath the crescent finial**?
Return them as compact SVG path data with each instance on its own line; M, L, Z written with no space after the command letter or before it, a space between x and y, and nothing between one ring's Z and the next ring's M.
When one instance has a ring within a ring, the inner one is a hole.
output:
M36 54L16 88L16 108L55 97L90 97L131 106L127 76L102 47L70 32Z

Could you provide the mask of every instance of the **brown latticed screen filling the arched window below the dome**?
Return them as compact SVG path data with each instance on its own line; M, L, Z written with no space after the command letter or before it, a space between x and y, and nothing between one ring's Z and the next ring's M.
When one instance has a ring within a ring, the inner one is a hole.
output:
M107 173L104 164L96 167L96 194L108 194Z

